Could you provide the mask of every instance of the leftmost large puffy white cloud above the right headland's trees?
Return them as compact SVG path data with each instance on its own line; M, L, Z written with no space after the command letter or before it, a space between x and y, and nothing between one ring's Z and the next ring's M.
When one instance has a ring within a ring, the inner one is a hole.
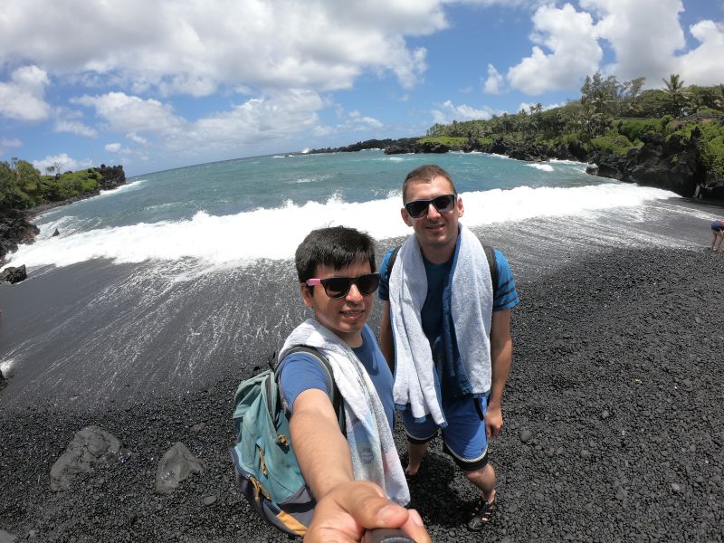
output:
M532 95L570 89L582 75L597 70L603 50L590 14L576 12L570 4L560 9L544 5L533 15L533 24L530 38L536 45L529 57L508 71L512 87Z

